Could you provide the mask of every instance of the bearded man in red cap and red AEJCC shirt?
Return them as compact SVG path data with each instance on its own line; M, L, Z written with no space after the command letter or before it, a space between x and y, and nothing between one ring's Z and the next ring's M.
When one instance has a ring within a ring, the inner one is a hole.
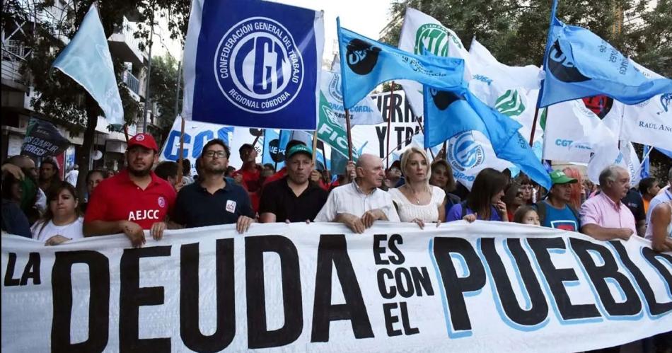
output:
M158 146L151 134L128 141L127 168L100 182L84 216L84 236L124 233L135 247L145 243L143 230L155 239L163 236L164 220L175 204L175 189L151 170Z

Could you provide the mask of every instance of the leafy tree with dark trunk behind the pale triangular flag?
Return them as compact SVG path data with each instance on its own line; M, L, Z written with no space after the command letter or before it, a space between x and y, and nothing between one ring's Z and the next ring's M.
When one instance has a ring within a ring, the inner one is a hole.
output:
M68 76L58 70L51 70L51 64L59 52L65 47L63 38L74 37L79 25L91 7L93 0L66 1L58 6L66 8L61 16L50 13L51 6L57 1L23 1L6 0L2 4L1 21L4 29L17 28L23 25L22 40L31 54L23 62L23 74L35 90L33 106L36 112L71 129L73 132L84 131L82 153L79 154L78 185L83 191L88 172L88 161L95 125L102 110L86 91ZM190 0L99 0L100 21L105 35L109 37L120 28L124 16L137 17L141 23L135 37L139 38L141 47L149 44L151 24L156 24L157 16L168 16L171 37L184 38L187 30ZM140 110L139 105L129 96L122 81L123 63L112 57L120 96L124 105L124 120L132 124Z

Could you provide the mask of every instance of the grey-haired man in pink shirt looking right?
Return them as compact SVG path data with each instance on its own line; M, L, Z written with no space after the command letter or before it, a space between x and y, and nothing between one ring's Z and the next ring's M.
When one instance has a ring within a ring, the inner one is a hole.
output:
M581 233L598 241L627 241L635 228L635 216L620 200L630 189L630 175L619 166L608 166L600 173L602 192L581 205Z

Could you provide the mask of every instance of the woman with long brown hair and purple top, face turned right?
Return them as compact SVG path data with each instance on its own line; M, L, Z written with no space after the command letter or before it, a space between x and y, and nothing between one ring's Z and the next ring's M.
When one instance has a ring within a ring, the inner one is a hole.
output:
M508 182L509 178L502 172L492 168L481 170L476 175L466 201L453 206L446 216L446 221L459 221L460 219L470 222L476 219L509 221L506 204L502 202L504 188Z

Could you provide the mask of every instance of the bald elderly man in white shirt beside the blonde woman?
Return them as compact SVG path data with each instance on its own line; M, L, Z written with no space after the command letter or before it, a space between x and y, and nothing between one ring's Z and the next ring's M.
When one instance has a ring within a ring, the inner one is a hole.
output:
M373 154L362 154L356 164L353 183L335 187L316 222L340 222L356 233L363 233L374 221L399 221L392 197L378 189L385 178L383 161Z

